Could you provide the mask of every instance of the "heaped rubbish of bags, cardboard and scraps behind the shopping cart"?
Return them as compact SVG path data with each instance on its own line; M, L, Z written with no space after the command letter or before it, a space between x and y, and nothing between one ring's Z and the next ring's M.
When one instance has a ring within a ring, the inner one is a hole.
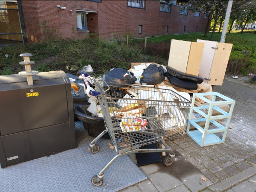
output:
M73 100L77 97L86 97L87 104L90 105L87 107L87 113L92 117L102 118L103 114L100 109L100 105L95 96L89 97L86 92L86 85L84 84L82 76L77 77L71 74L67 74L72 82L72 96ZM92 79L86 77L87 81L90 84L90 89L94 89L92 87ZM182 73L170 67L165 67L163 65L159 65L157 63L132 63L129 70L124 70L122 68L115 68L110 70L109 72L100 76L100 79L104 79L104 81L108 82L108 86L120 87L122 84L130 84L130 87L123 87L122 89L112 90L110 92L112 97L123 98L116 101L116 107L111 108L110 114L111 118L122 118L122 122L120 122L120 127L123 132L126 131L135 131L135 130L143 130L147 125L147 120L142 117L143 113L146 113L146 109L143 109L143 103L130 103L131 100L129 98L133 98L134 96L139 97L138 93L133 90L133 86L146 86L149 88L157 88L157 89L167 89L171 90L183 98L187 99L187 101L191 100L191 96L193 93L204 93L204 92L212 92L212 88L210 84L204 83L203 79L199 76L190 75L186 73ZM149 92L150 93L150 92ZM137 94L137 95L136 95ZM143 95L143 94L141 94ZM144 94L143 99L150 99L151 97ZM156 94L154 94L156 95ZM167 95L166 95L167 96ZM144 98L145 97L145 98ZM154 96L155 100L163 100L165 97L164 94L158 96ZM208 96L208 99L212 99L212 96ZM152 98L151 98L152 99ZM177 99L177 98L174 98ZM168 99L166 99L168 100ZM126 103L125 102L129 102ZM198 106L203 105L203 100L196 98L195 104ZM148 105L147 105L148 107ZM182 106L179 106L182 109ZM155 108L155 113L160 114L164 113L164 111L168 111L168 109L157 109L157 106L152 105L151 108ZM228 106L221 106L221 109L224 111L228 111ZM152 111L152 110L151 110ZM173 110L177 113L182 113L180 109ZM214 111L214 113L217 113ZM131 117L131 118L130 118ZM200 118L200 114L195 113L194 118ZM103 118L102 118L103 119ZM103 120L102 120L103 121ZM177 122L166 122L168 124L172 124L172 126L185 126L186 119L184 121Z

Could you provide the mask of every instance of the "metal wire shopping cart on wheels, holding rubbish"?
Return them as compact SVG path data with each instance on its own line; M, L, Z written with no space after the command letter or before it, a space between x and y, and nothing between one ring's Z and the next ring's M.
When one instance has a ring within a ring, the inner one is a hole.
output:
M117 155L92 177L92 183L100 186L105 170L117 158L131 153L167 152L163 162L171 165L175 153L164 140L185 134L190 101L169 89L105 82L102 78L93 81L100 93L95 97L100 104L98 115L103 116L106 130L90 143L91 152L99 151L96 141L109 132ZM151 143L162 143L165 148L140 149Z

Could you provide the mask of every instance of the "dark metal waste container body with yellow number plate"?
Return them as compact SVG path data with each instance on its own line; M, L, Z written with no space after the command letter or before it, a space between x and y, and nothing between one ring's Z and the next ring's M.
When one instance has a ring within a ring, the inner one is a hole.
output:
M76 147L71 83L62 71L0 76L0 163L10 166Z

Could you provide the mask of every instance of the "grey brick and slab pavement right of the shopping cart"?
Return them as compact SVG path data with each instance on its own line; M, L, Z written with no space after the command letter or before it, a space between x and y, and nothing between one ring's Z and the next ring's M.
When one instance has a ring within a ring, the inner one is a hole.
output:
M236 100L225 143L200 147L187 135L166 142L178 152L175 162L142 166L148 179L122 192L256 191L256 90L225 80L216 91Z

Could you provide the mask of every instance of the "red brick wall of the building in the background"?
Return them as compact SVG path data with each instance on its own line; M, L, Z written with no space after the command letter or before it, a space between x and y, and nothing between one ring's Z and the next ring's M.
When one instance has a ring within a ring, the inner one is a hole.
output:
M57 8L57 5L66 7L66 10ZM207 19L201 14L195 17L188 12L188 16L180 15L178 6L172 6L171 13L160 12L160 3L145 1L145 9L127 7L127 1L22 1L25 27L28 41L38 41L44 37L41 22L54 26L63 38L81 38L88 34L86 31L77 31L76 10L97 11L88 14L88 30L98 33L102 38L111 38L111 33L123 34L131 32L134 37L152 36L165 33L198 32L204 31ZM70 9L73 12L70 12ZM142 34L139 33L142 25ZM75 33L73 32L73 29Z

